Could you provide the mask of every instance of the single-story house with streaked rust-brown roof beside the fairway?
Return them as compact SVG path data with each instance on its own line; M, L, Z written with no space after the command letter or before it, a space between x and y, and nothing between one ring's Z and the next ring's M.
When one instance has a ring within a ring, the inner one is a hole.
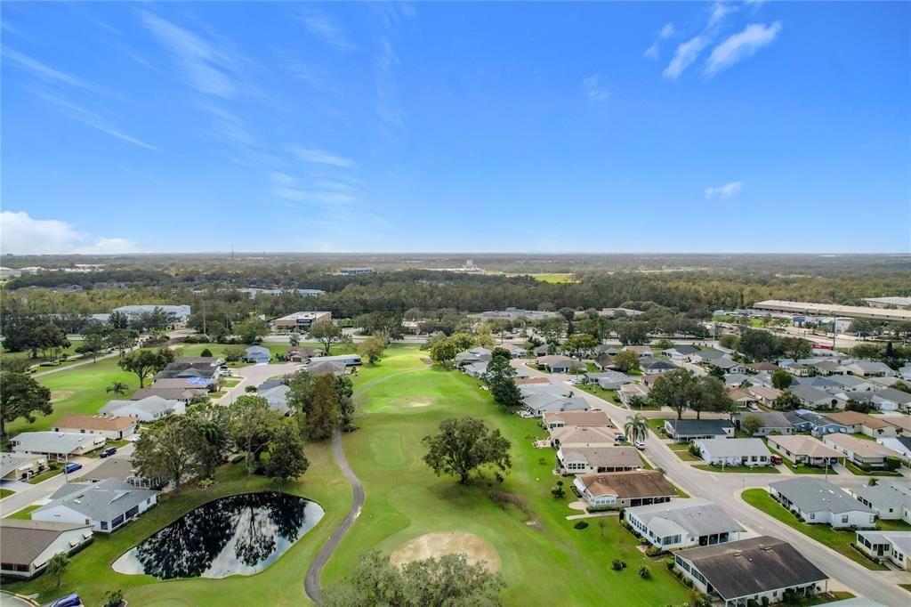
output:
M658 470L580 474L573 480L582 499L594 508L632 508L663 504L677 490Z

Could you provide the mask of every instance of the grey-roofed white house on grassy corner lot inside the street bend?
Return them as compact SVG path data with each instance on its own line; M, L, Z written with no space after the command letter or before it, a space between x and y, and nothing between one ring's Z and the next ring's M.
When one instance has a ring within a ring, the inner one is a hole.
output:
M791 478L769 483L769 492L784 508L805 522L835 529L868 529L876 524L873 509L820 478Z

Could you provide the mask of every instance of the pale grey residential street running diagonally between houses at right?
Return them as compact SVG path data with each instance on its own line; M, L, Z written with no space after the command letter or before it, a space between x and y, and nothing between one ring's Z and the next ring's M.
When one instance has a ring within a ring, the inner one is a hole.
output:
M519 361L519 365L524 362ZM543 374L531 366L527 366L532 375L548 376L552 383L562 383L569 389L568 380L571 376L557 374ZM623 427L627 416L632 413L629 409L614 406L611 403L576 388L577 396L582 396L589 401L591 406L603 409L618 427ZM650 411L647 417L666 417L667 413ZM710 417L710 416L705 416ZM726 474L712 473L697 468L692 468L678 458L670 448L667 448L660 438L649 433L646 440L645 456L655 468L663 468L668 478L692 497L711 499L722 508L728 510L732 517L754 533L771 535L793 544L806 558L813 561L822 571L831 578L840 582L853 592L868 599L882 602L886 605L902 606L909 602L907 591L896 586L896 583L911 583L911 573L902 571L869 571L861 565L851 561L834 550L811 540L803 533L793 530L784 523L774 520L757 509L742 501L740 493L743 489L753 487L765 488L770 482L787 478L781 474ZM830 475L829 480L841 487L852 485L865 485L867 478L852 474ZM899 482L908 483L909 479L900 478Z

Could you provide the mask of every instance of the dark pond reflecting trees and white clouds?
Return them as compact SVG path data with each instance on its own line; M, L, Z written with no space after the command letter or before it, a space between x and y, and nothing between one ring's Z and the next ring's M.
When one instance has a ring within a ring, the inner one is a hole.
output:
M322 519L322 508L287 493L216 499L114 561L119 573L170 578L251 575L269 567Z

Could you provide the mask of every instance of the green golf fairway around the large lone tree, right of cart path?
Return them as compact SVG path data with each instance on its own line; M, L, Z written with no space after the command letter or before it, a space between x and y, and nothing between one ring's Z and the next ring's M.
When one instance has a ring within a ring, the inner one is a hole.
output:
M357 378L361 385L367 370L363 367ZM532 445L544 436L537 420L503 412L478 389L476 379L421 369L370 387L361 406L361 429L343 441L367 499L353 530L329 561L323 583L343 577L365 550L389 553L425 533L452 530L476 534L494 547L507 582L507 604L663 605L689 600L689 592L663 564L637 549L616 518L609 518L603 539L597 525L572 528L565 517L572 513L568 501L575 498L550 495L557 480L551 473L554 454ZM462 416L483 418L512 442L513 468L502 484L489 474L463 487L455 478L436 477L421 460L421 439L435 433L443 419ZM614 558L627 561L627 571L610 571ZM643 564L650 566L650 581L636 575Z

